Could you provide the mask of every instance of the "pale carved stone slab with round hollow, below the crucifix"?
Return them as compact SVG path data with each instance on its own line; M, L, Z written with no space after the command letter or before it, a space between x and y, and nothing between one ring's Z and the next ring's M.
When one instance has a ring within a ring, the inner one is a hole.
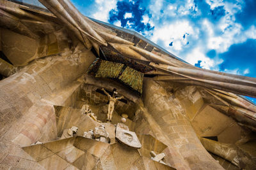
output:
M116 125L116 139L133 148L141 148L141 143L136 136L136 133L129 131L129 127L125 124Z

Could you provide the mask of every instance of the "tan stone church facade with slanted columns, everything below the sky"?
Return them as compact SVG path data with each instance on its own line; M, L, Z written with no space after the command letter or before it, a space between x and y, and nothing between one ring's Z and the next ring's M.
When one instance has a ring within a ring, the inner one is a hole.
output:
M255 168L256 106L237 95L254 96L255 78L204 72L67 0L40 2L49 11L0 0L0 169ZM140 64L142 94L87 74L114 56L100 46ZM102 88L124 96L111 122Z

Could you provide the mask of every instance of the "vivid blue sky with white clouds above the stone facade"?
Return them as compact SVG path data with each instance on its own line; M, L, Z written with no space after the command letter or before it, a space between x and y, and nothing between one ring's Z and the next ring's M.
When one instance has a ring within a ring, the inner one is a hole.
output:
M83 15L139 32L194 66L256 78L255 0L71 1Z

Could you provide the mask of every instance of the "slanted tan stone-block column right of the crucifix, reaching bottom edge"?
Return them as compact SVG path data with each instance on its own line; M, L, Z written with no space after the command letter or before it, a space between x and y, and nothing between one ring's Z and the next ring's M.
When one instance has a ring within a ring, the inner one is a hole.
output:
M143 104L157 124L150 126L160 128L164 138L168 138L163 141L163 138L156 136L169 148L165 150L166 160L168 157L182 158L172 159L172 166L177 169L185 168L180 164L188 165L191 169L223 169L200 143L179 100L172 93L153 80L145 80Z

